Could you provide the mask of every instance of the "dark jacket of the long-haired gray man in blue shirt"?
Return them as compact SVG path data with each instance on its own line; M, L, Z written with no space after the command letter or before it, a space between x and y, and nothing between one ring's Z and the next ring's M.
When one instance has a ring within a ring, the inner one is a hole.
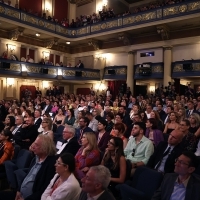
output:
M28 196L25 200L40 200L44 190L49 185L51 179L55 174L55 163L56 156L48 156L45 161L42 163L40 170L38 171L35 181L33 184L33 194ZM35 162L32 162L32 165L29 168L29 171L34 166ZM28 173L27 173L28 174ZM21 187L21 186L20 186ZM18 191L20 191L20 187Z

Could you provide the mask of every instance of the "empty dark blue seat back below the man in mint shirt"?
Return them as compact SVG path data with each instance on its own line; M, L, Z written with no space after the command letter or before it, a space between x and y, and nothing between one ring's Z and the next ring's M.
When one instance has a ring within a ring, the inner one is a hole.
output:
M151 199L163 179L163 174L147 167L138 167L133 175L131 186ZM149 184L150 183L150 184Z

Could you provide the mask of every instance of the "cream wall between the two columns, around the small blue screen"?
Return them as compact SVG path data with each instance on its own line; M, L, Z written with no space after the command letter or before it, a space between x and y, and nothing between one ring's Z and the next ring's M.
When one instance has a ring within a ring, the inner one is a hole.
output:
M154 56L140 57L140 53L145 53L145 52L154 52ZM163 49L157 48L157 49L146 49L142 51L137 51L135 64L142 64L146 62L152 62L152 63L163 62Z

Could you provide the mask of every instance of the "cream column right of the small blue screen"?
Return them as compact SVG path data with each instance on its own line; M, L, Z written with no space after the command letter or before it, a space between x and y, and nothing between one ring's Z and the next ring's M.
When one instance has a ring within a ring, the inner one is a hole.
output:
M171 63L172 63L172 47L163 47L164 51L164 77L163 86L168 86L168 82L171 82Z

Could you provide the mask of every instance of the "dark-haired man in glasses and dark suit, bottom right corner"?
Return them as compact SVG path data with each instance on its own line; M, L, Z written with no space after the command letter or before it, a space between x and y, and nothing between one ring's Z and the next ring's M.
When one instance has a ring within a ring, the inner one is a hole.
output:
M183 152L175 162L175 173L165 175L151 200L200 199L200 178L193 174L197 165L194 153Z

